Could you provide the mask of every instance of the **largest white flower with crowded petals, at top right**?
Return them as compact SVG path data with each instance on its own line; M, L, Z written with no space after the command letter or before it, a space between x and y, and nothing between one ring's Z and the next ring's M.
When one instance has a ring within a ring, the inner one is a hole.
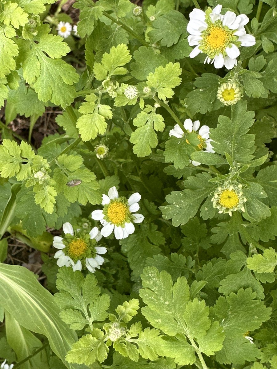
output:
M214 63L215 68L232 69L237 64L240 46L253 46L256 39L247 35L244 25L249 22L245 14L236 16L233 11L222 15L222 5L213 10L208 8L205 12L194 9L189 14L190 21L187 26L188 43L196 46L189 54L194 58L199 53L207 55L205 62Z

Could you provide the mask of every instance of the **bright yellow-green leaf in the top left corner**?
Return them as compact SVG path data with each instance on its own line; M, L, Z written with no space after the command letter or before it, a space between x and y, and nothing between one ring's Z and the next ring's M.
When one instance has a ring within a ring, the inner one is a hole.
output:
M0 21L5 25L13 25L14 28L19 28L28 22L28 14L24 13L23 9L17 3L7 1L4 4L4 10L0 13Z

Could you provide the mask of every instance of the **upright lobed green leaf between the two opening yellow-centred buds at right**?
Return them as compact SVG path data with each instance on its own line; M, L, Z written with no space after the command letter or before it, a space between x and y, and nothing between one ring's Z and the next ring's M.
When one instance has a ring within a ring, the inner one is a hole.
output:
M247 102L239 101L232 109L232 119L219 115L217 128L211 128L210 137L218 154L227 152L233 160L242 163L253 158L254 135L247 134L254 123L254 112L247 111Z

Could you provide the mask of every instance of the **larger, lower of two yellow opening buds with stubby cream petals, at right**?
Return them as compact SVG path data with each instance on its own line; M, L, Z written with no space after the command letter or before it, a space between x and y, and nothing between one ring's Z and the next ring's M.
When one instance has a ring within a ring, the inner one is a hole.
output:
M228 213L232 216L232 211L244 211L244 202L242 184L236 184L226 181L223 186L219 186L213 193L213 207L219 209L219 214Z

